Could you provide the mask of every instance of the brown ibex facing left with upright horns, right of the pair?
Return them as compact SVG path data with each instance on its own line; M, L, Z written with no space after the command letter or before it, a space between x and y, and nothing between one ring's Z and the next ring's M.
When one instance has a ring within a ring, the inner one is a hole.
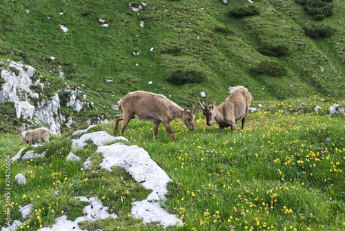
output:
M219 124L219 128L223 130L224 128L230 127L231 130L236 130L237 122L242 119L242 129L244 128L244 119L248 114L250 102L253 97L243 86L237 86L230 89L230 95L226 100L219 106L215 106L215 101L213 105L206 104L203 102L201 104L198 97L199 104L202 108L202 113L206 117L207 125L212 125L213 119Z

